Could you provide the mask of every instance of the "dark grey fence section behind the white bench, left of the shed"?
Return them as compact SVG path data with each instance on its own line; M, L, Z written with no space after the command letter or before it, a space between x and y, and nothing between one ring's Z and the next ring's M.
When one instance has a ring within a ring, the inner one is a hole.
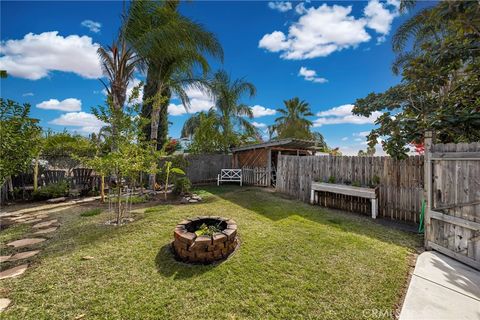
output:
M232 168L232 156L227 154L188 155L187 177L193 184L217 181L221 169Z

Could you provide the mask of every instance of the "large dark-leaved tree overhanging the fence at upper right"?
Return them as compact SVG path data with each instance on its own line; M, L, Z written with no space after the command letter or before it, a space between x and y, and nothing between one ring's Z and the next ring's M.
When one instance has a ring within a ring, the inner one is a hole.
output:
M443 143L480 139L479 12L478 1L442 1L399 27L392 69L402 82L358 99L353 108L362 116L383 113L368 136L371 147L382 137L389 155L405 158L408 145L421 143L426 131Z

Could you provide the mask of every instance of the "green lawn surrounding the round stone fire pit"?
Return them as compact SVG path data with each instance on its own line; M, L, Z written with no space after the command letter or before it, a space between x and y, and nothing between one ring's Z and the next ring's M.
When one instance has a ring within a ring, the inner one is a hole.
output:
M361 319L395 309L417 236L261 189L197 193L201 204L153 207L122 227L103 225L105 212L65 212L30 270L2 280L13 301L2 318ZM235 219L239 250L217 265L176 262L173 228L196 215Z

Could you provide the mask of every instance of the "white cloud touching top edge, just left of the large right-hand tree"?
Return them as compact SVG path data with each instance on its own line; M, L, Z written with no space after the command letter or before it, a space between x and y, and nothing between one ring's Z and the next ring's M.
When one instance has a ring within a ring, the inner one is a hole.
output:
M390 32L392 21L399 15L398 7L392 2L395 8L390 11L387 9L388 3L380 3L378 0L370 0L363 10L367 20L367 27L381 34L377 41L385 41L385 35Z

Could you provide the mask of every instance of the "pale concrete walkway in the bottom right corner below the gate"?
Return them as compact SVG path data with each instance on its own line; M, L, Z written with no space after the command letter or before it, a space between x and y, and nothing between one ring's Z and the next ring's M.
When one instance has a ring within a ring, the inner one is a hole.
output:
M480 271L441 253L418 256L400 320L480 319Z

